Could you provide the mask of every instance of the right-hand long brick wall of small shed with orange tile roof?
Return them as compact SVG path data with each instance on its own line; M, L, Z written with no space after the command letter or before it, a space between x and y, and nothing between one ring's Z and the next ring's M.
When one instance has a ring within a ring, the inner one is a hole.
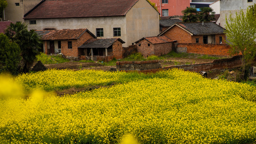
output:
M172 42L154 44L154 55L161 56L172 51Z

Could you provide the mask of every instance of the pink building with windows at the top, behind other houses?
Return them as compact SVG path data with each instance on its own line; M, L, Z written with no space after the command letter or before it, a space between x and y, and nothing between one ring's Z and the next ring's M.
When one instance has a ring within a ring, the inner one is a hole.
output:
M156 3L160 16L181 16L182 10L190 7L191 0L150 0Z

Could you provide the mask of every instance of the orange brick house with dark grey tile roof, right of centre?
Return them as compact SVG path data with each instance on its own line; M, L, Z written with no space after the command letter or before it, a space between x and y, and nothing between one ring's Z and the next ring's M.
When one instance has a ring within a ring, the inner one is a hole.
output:
M225 44L225 29L214 22L178 22L158 36L167 36L178 43Z

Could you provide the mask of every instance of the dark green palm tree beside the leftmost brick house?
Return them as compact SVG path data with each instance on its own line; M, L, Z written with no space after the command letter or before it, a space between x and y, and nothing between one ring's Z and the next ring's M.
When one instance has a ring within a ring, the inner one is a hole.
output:
M27 25L20 22L11 23L5 33L12 42L20 46L22 56L20 72L28 72L36 60L36 55L39 54L41 41L38 34L34 30L28 31Z

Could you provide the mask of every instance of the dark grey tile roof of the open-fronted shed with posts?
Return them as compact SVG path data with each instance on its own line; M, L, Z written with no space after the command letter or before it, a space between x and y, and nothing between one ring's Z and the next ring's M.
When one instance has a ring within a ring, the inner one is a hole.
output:
M122 44L125 43L120 38L89 39L78 48L108 48L117 40L120 41Z

